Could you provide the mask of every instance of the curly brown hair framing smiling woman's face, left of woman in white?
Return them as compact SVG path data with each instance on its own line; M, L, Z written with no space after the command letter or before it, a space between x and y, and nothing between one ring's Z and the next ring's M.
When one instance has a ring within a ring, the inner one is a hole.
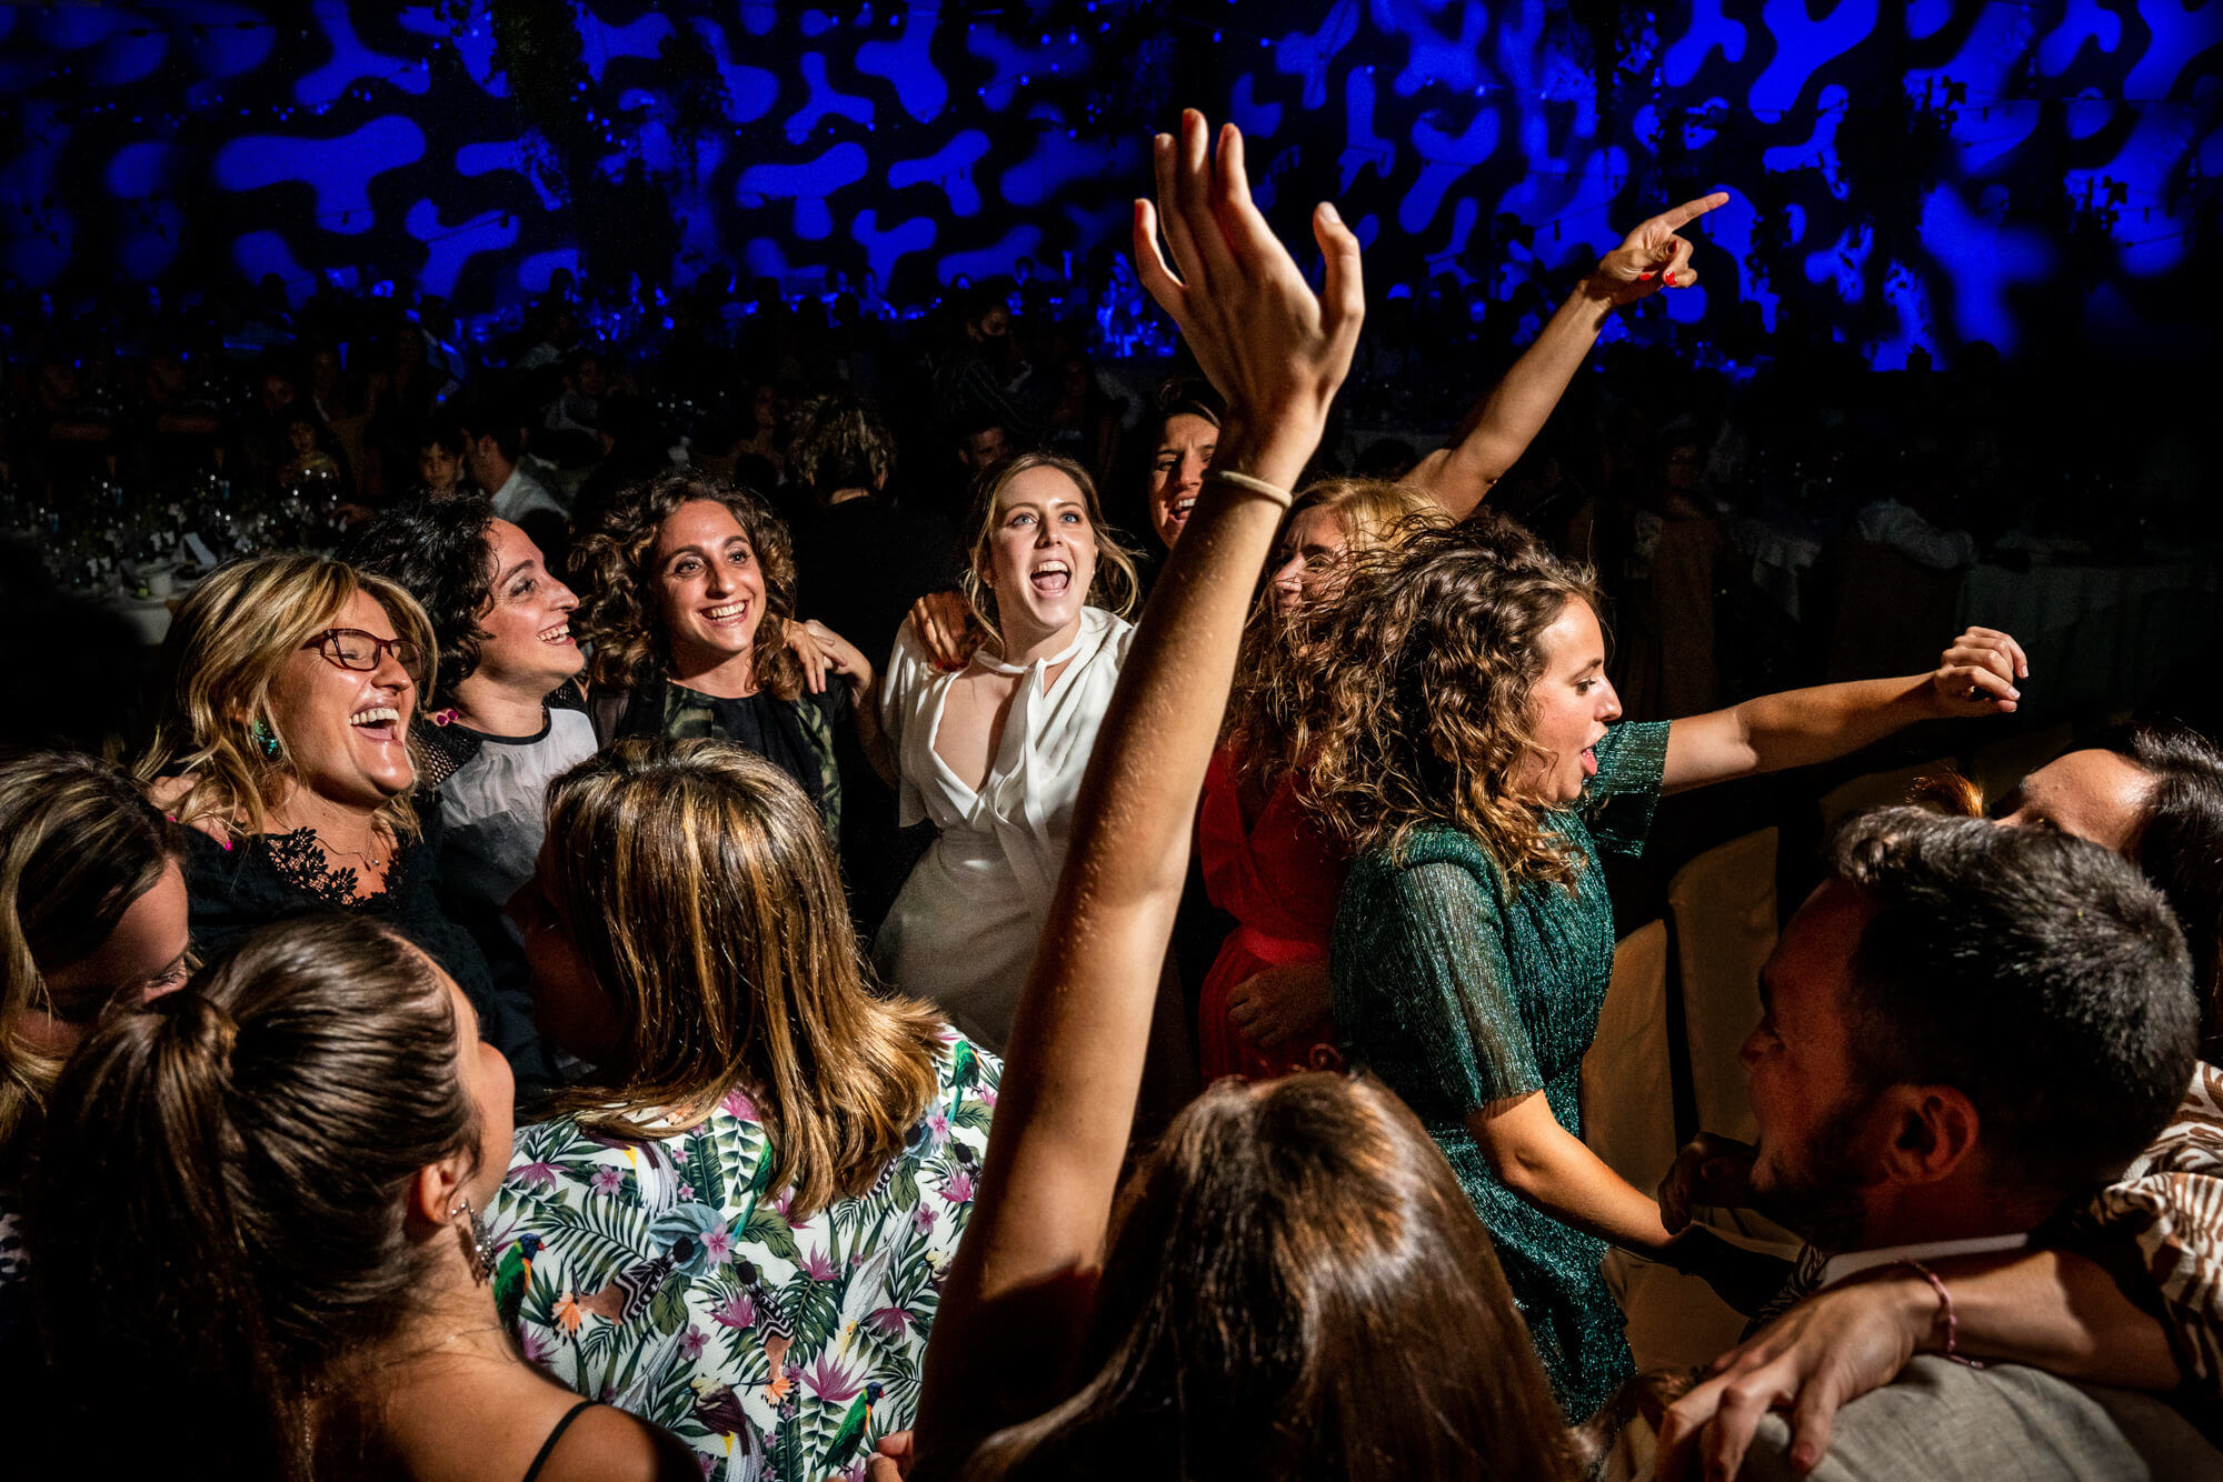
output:
M662 604L656 600L656 538L680 504L714 500L734 511L765 571L765 618L756 624L756 684L778 700L803 693L803 664L787 647L796 620L796 547L771 507L740 484L707 473L660 473L625 489L578 542L571 573L582 593L574 622L591 644L587 682L642 689L671 673Z

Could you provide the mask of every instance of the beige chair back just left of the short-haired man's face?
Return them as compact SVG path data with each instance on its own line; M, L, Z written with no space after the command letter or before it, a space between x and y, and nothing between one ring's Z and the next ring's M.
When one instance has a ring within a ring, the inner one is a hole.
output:
M1761 1018L1761 964L1776 947L1776 831L1707 849L1667 882L1683 1035L1698 1129L1752 1142L1736 1051Z

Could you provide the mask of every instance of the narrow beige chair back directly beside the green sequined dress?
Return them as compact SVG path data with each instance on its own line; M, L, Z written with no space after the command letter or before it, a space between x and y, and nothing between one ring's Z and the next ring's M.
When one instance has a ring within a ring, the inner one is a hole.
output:
M1638 1189L1674 1162L1674 1071L1667 1047L1667 922L1614 949L1598 1038L1583 1058L1583 1142Z

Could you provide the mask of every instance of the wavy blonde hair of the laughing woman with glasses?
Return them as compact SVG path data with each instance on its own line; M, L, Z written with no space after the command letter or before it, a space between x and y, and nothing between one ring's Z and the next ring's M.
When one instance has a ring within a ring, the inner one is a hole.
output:
M160 715L138 764L140 784L191 778L171 807L180 824L218 820L233 835L262 833L271 807L300 782L293 751L271 715L271 687L287 662L367 593L425 655L418 702L438 684L431 620L400 582L311 553L245 555L218 567L185 600L162 642ZM256 729L278 740L267 753ZM409 760L422 771L416 740ZM416 838L409 793L380 804L393 838Z

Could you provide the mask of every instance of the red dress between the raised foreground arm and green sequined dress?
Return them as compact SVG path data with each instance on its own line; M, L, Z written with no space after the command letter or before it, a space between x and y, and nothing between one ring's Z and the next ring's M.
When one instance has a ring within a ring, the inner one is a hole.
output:
M1218 751L1196 815L1212 904L1236 918L1205 975L1196 1049L1205 1080L1272 1080L1289 1071L1340 1071L1336 1024L1320 1020L1274 1049L1258 1049L1227 1020L1227 995L1269 967L1327 962L1347 860L1312 827L1289 778L1274 784L1256 820L1243 818L1234 753Z

